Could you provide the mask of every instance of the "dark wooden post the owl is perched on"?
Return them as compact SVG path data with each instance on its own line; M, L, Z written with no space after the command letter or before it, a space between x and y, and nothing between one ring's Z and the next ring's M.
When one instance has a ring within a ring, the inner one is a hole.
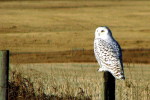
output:
M104 100L115 100L115 78L110 72L104 72Z

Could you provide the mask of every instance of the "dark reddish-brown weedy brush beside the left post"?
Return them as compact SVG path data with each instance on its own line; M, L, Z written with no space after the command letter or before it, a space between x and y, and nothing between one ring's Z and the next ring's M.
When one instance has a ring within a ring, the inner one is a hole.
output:
M11 72L11 81L8 87L8 100L91 100L84 95L73 97L71 95L58 96L56 94L45 94L43 84L35 91L34 83L30 78L24 78L20 72Z

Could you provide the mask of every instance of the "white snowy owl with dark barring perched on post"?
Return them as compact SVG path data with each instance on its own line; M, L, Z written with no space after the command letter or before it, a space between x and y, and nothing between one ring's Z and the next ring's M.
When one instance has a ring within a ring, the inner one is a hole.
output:
M99 72L109 71L116 79L125 79L121 48L108 27L96 29L94 54L100 65Z

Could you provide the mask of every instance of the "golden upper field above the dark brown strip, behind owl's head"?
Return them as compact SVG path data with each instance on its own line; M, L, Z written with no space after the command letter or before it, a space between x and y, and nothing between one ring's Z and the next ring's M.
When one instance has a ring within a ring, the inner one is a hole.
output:
M0 49L12 52L92 49L94 31L102 25L112 29L123 48L150 48L149 1L0 3Z

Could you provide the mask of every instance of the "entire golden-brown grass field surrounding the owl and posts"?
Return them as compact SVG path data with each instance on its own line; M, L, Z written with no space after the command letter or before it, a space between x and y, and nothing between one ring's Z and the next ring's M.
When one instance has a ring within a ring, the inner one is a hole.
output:
M99 26L112 30L126 50L126 62L150 62L150 1L4 1L0 49L10 50L10 100L101 99L102 73L97 64L88 63L95 61L94 31ZM63 60L70 63L58 63ZM149 71L148 64L126 64L126 80L117 80L117 100L149 100Z

